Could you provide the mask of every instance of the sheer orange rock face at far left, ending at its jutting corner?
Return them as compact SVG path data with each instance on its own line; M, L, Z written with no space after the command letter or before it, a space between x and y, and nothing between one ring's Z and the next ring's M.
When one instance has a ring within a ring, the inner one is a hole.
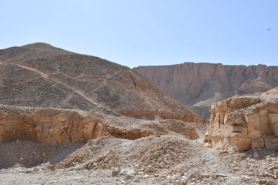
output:
M1 107L0 142L15 139L45 144L86 142L108 135L101 122L99 116L79 111Z

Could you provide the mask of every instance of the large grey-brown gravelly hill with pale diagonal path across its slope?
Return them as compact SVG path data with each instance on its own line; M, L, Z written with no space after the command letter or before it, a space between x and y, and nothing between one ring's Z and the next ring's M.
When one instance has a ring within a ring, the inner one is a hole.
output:
M203 121L136 71L44 43L0 50L0 104Z

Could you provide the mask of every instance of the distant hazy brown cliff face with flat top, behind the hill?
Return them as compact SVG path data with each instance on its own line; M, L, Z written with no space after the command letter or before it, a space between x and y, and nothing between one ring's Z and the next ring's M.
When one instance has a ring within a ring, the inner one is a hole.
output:
M206 118L213 103L234 95L260 94L278 86L278 67L261 64L247 67L185 62L134 70Z

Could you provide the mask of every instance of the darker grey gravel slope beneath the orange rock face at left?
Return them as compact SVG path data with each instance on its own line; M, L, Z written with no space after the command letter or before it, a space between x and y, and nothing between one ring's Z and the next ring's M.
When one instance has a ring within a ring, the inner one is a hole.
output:
M0 169L17 166L31 168L50 162L55 164L84 143L66 142L47 146L35 141L9 141L0 143Z

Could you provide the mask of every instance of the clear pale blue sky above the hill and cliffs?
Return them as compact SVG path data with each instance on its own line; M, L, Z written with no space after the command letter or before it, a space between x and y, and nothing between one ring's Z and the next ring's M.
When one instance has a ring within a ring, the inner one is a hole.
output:
M0 49L47 42L129 67L278 65L277 0L6 0L0 8Z

